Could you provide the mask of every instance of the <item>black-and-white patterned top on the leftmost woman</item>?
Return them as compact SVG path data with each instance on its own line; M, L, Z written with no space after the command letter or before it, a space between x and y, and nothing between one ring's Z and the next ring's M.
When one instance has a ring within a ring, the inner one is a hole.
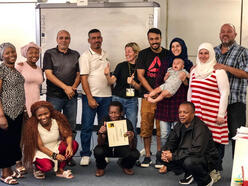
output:
M0 99L3 112L11 119L17 118L23 112L25 105L24 77L16 69L0 65L2 91Z

